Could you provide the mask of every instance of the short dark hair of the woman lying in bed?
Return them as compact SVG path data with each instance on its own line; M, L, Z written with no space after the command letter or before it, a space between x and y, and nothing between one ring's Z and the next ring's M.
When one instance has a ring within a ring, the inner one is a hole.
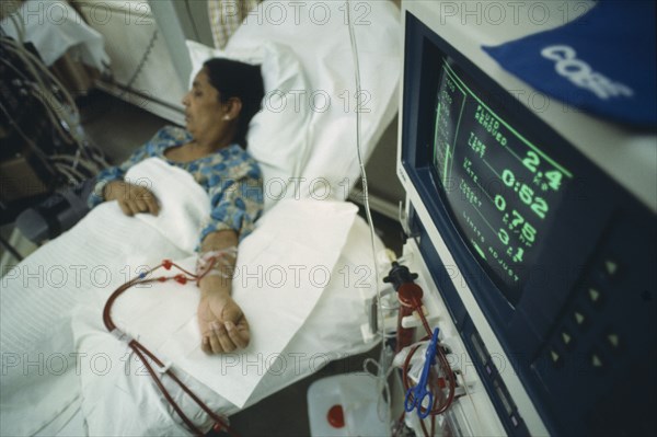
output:
M245 149L249 123L261 110L265 95L260 67L224 58L208 59L204 62L204 67L210 84L219 91L221 103L231 97L239 97L242 101L234 140Z

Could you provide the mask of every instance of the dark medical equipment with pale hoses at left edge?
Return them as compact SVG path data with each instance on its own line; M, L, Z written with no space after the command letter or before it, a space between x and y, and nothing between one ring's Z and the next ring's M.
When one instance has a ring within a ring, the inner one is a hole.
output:
M70 93L31 43L0 35L0 203L18 209L95 175L107 163Z

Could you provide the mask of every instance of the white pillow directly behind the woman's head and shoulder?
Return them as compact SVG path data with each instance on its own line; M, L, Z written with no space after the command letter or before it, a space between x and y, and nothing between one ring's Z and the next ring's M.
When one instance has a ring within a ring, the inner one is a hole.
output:
M308 160L310 111L296 104L308 81L295 54L286 46L265 43L249 50L224 51L187 41L194 76L210 58L229 58L261 65L265 97L263 108L251 120L246 141L251 156L263 171L265 210L281 198L296 197L296 177Z

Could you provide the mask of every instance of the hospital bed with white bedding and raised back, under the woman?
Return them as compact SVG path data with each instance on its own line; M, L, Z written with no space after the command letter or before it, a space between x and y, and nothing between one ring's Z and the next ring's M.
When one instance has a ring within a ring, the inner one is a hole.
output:
M308 5L325 13L252 20L224 51L188 44L196 67L209 56L263 66L265 107L252 122L249 143L264 174L265 214L241 244L233 280L251 345L222 356L200 352L194 285L138 287L113 310L126 335L224 416L372 346L360 326L367 322L364 297L377 287L372 251L383 245L344 199L359 180L357 145L367 160L396 112L399 10L392 2L358 2L364 9L353 26L355 47L342 2ZM269 7L265 1L256 12L265 16ZM148 160L128 175L150 181L160 194L158 218L127 218L115 204L103 204L2 278L0 434L188 433L125 338L107 333L101 317L107 296L145 266L164 257L194 266L207 199L188 174L174 170ZM200 409L171 380L163 382L209 429Z

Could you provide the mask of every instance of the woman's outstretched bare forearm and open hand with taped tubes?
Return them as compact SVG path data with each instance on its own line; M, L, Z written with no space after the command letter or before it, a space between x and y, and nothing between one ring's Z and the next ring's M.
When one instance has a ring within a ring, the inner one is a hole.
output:
M251 332L242 309L231 297L235 267L238 234L233 230L215 231L203 240L199 256L215 256L212 271L200 279L198 326L201 349L226 353L249 345Z

